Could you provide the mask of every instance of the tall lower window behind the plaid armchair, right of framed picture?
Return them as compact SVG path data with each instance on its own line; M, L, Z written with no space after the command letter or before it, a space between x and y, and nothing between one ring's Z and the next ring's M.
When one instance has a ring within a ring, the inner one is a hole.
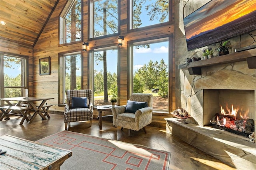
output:
M81 89L81 53L66 53L60 55L60 98L61 104L66 103L67 90Z

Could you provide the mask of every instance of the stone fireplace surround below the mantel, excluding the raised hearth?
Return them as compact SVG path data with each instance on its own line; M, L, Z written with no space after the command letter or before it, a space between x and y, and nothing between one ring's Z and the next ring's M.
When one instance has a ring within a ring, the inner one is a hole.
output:
M255 120L255 74L246 61L203 67L202 75L180 70L184 76L180 106L192 115L190 122L200 126L209 125L214 114L220 113L220 105L226 104L249 109L249 118Z

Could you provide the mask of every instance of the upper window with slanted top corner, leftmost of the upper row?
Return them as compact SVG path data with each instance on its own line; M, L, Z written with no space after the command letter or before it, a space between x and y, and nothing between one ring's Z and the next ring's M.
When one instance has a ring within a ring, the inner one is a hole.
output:
M60 16L60 44L82 40L81 0L69 0L67 7Z

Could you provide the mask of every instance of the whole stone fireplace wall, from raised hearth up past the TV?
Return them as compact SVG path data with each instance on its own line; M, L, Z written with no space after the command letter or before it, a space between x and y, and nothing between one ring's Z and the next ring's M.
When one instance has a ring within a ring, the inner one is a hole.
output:
M212 116L220 112L220 105L226 107L226 103L241 104L244 109L249 107L249 117L255 123L256 67L249 67L249 64L256 63L256 49L234 50L255 45L255 36L244 34L230 38L232 50L228 55L186 65L186 58L203 57L202 49L212 47L215 50L220 43L192 51L186 47L183 18L208 1L174 1L175 107L184 108L192 118L186 119L188 124L176 118L166 119L166 130L233 168L255 168L256 144L237 134L206 127ZM256 35L256 31L252 34ZM216 52L214 55L218 56Z

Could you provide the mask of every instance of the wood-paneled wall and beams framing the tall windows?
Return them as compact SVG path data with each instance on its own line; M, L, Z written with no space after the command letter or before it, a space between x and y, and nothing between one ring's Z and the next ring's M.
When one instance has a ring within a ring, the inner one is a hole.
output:
M100 38L100 39L89 39L89 27L88 27L88 21L89 21L89 1L83 0L83 41L73 43L70 45L59 45L59 16L62 12L62 9L64 8L66 1L59 1L54 12L52 13L52 16L48 20L48 23L46 24L44 30L42 31L40 37L38 38L38 41L36 42L34 48L33 48L33 54L31 53L32 49L20 49L22 50L21 53L24 55L27 54L30 56L30 58L33 56L33 61L30 61L30 63L33 64L30 65L30 71L33 72L31 75L32 80L30 80L30 84L33 85L33 95L35 97L39 96L47 96L47 97L54 97L53 100L48 101L53 107L50 108L50 110L56 110L56 111L63 111L63 107L58 107L58 56L59 53L68 53L69 51L82 51L82 42L89 42L88 51L82 52L83 56L83 77L82 77L82 84L83 88L88 88L88 56L90 49L97 49L100 47L106 47L106 46L117 46L117 37L115 36L108 36L106 38ZM92 2L92 1L91 1ZM169 1L172 3L172 1ZM123 45L121 47L118 47L118 53L119 53L119 60L120 60L120 72L118 74L119 77L119 87L118 89L118 104L124 105L126 104L126 101L129 97L130 91L129 91L129 61L128 61L128 43L141 39L141 40L150 40L152 38L164 38L164 37L173 37L174 34L174 24L173 23L173 17L171 18L172 22L170 24L160 24L159 26L150 26L147 28L140 28L138 31L130 31L128 28L128 3L127 0L121 0L119 1L121 9L120 9L120 35L124 36ZM173 14L173 10L172 14ZM170 42L170 47L174 49L174 42ZM1 45L2 46L2 45ZM1 49L2 50L2 49ZM14 51L14 49L8 49L11 51ZM16 50L16 49L15 49ZM25 52L30 51L30 52ZM20 52L20 51L17 51ZM44 57L50 57L51 58L51 74L50 75L39 75L39 59ZM170 60L172 62L172 65L169 67L174 67L174 52L170 55ZM31 67L33 69L31 69ZM172 73L170 73L170 76L174 76L174 69L170 69ZM175 89L174 88L174 78L170 78L170 90ZM173 107L175 107L175 99L174 98L175 93L172 93L172 97L170 97L170 111L172 111ZM170 117L170 116L169 116ZM157 118L158 119L158 118Z

